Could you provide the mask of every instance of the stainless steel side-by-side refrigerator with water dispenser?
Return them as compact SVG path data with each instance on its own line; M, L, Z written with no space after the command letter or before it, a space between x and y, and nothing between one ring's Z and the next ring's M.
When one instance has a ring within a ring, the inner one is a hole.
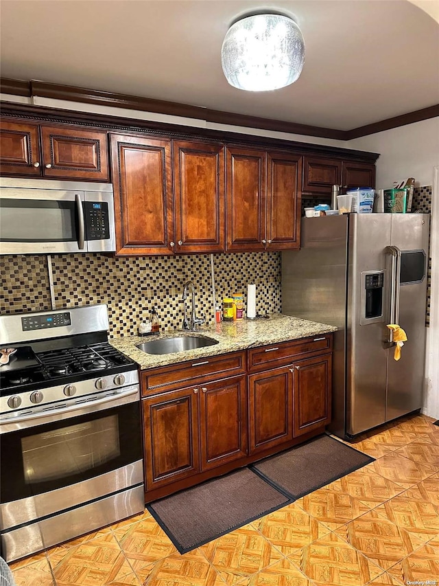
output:
M337 326L329 430L352 438L422 406L428 214L302 218L282 311ZM387 324L407 334L401 359Z

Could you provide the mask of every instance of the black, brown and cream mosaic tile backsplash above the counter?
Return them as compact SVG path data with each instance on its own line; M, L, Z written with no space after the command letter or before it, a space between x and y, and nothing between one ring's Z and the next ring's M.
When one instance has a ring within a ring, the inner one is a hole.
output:
M114 258L102 254L51 256L57 308L106 303L110 335L137 334L141 319L155 307L162 330L180 328L182 291L192 280L198 314L213 324L211 260L208 254ZM215 295L219 302L255 283L257 313L281 311L281 254L215 254ZM1 313L51 309L45 256L1 256ZM190 296L187 310L191 310Z

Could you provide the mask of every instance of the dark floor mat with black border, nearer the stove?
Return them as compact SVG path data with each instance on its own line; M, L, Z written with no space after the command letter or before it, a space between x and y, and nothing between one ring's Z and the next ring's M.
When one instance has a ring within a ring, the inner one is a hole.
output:
M147 506L180 554L292 502L248 468Z

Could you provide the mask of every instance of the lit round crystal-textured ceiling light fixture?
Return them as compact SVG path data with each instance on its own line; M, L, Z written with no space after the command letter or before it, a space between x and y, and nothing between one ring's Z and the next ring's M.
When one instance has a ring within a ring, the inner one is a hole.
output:
M296 23L280 14L257 14L233 24L222 43L227 81L247 91L267 91L295 82L305 60L305 42Z

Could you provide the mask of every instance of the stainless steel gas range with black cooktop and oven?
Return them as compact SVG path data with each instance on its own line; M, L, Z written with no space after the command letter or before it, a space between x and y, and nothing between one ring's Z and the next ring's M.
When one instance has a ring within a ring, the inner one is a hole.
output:
M104 304L0 316L6 561L144 509L139 374L107 330Z

